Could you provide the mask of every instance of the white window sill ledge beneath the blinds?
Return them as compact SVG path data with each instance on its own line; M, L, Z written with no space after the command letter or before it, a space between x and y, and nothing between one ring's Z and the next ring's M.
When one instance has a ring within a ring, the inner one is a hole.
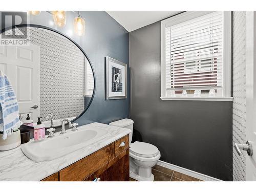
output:
M170 101L233 101L233 97L160 97Z

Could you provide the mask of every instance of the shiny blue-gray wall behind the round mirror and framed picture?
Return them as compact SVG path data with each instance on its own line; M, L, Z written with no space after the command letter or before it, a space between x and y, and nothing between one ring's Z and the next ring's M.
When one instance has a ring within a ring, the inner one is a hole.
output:
M1 11L0 11L1 12ZM52 15L42 11L30 16L30 24L56 29L81 46L91 60L96 75L96 92L89 109L76 122L79 125L90 122L109 123L129 117L130 84L127 83L127 99L105 100L104 57L110 56L129 65L129 33L104 11L80 11L86 19L86 34L73 34L73 19L77 14L67 11L67 23L63 28L53 24Z

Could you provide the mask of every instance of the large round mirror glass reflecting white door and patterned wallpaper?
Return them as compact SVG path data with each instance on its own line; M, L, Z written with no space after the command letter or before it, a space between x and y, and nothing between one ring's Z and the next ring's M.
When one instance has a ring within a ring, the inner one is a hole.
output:
M41 26L6 30L5 36L27 34L26 45L0 47L0 70L15 90L22 121L27 114L43 117L50 127L61 119L74 120L89 107L94 74L83 50L70 38Z

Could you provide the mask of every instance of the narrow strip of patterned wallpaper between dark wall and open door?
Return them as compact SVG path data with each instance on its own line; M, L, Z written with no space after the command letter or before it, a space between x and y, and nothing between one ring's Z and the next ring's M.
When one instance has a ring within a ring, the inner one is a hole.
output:
M233 143L246 143L246 12L233 11ZM245 181L245 153L233 147L233 181Z

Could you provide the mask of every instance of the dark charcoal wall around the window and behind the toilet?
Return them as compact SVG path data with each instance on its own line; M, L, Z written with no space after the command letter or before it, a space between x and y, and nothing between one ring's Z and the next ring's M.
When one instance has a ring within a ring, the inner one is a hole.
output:
M160 100L160 22L129 38L133 140L156 145L162 161L231 181L232 102Z

